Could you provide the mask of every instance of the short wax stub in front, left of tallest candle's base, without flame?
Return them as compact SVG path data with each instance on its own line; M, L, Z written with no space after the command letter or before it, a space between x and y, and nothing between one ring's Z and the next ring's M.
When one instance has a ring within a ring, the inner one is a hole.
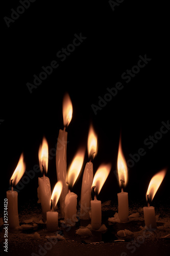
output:
M50 232L55 232L58 229L58 212L47 211L46 212L46 228Z

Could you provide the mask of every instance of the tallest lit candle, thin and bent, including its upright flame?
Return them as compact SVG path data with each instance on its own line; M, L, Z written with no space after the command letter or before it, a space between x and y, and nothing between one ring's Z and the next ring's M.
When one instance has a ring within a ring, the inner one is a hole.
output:
M68 126L72 118L72 103L68 94L63 99L63 123L64 130L59 131L57 140L57 151L56 151L56 169L57 169L57 180L63 184L63 189L60 196L60 210L61 217L64 217L65 197L68 193L68 186L66 184L67 177L67 132L65 128Z

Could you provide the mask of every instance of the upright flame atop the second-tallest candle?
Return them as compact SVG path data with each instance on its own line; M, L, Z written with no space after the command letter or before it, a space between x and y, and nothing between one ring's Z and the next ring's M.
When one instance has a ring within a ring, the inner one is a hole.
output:
M96 153L97 153L97 144L98 144L97 136L94 133L93 126L90 125L90 129L89 129L89 133L88 133L88 141L87 141L87 148L88 148L89 158L91 156L92 156L92 158L94 158L94 156L96 155Z

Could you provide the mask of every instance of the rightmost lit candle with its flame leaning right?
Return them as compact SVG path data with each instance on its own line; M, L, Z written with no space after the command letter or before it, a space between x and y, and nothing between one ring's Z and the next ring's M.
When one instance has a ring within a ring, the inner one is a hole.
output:
M153 200L156 191L158 190L163 178L165 177L166 170L161 170L159 173L154 175L150 181L148 190L147 190L147 201L148 201L148 206L143 207L143 213L144 213L144 223L145 223L145 228L148 230L150 229L156 229L156 218L155 218L155 207L150 206L150 202Z

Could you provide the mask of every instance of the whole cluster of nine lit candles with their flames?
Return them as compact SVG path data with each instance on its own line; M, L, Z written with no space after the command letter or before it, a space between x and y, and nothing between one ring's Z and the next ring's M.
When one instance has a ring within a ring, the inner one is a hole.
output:
M66 162L66 147L67 147L67 132L65 128L68 126L72 118L72 103L68 94L65 95L63 100L63 121L64 130L59 131L57 151L56 151L56 170L57 180L53 193L51 194L51 184L48 177L46 177L48 166L48 144L45 138L42 140L42 145L39 147L38 157L42 177L38 178L38 203L41 203L43 219L46 220L46 227L49 231L56 231L58 229L58 212L55 209L58 200L60 201L61 217L64 218L66 224L74 226L77 218L77 195L70 191L74 186L82 169L85 150L80 149L74 160L72 161L68 172ZM81 187L81 204L80 204L80 218L82 220L90 220L93 229L99 229L102 225L102 207L101 201L96 199L99 195L103 184L105 183L110 170L111 164L101 164L96 170L93 177L93 163L98 150L97 136L93 130L92 125L88 134L88 156L89 162L86 163L82 187ZM10 179L11 190L7 191L8 199L8 224L10 230L19 226L18 207L17 207L17 191L13 190L23 173L25 172L26 165L23 161L23 154L21 154L18 165ZM129 203L128 193L124 191L124 187L128 182L128 168L126 160L122 151L121 138L119 140L118 157L117 157L117 171L119 185L122 191L117 194L118 197L118 217L120 222L127 222L129 220ZM150 206L151 202L159 188L166 170L161 170L156 174L149 184L147 190L148 206L143 207L145 226L148 229L156 228L155 208ZM91 200L93 191L94 200Z

